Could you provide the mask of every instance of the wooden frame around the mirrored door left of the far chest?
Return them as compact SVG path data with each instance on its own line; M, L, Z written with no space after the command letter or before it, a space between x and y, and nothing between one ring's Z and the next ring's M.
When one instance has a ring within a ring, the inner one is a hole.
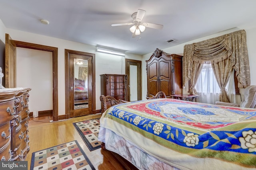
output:
M87 55L92 57L92 113L95 114L95 109L96 109L96 93L95 93L95 54L92 53L86 53L82 51L74 51L74 50L69 50L65 49L65 117L66 119L70 118L70 95L69 95L69 90L70 90L70 84L69 84L69 79L70 79L70 72L69 72L69 53L76 54L76 55Z

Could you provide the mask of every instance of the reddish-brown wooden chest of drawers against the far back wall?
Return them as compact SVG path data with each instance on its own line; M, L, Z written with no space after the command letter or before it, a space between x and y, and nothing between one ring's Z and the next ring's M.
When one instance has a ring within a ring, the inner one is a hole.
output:
M116 100L126 100L127 75L102 74L100 75L101 95L112 96Z

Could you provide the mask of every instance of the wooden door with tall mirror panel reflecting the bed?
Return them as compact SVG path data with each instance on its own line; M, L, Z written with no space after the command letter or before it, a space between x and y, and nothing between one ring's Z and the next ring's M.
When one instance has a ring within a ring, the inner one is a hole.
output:
M66 49L65 57L66 117L92 114L94 54Z

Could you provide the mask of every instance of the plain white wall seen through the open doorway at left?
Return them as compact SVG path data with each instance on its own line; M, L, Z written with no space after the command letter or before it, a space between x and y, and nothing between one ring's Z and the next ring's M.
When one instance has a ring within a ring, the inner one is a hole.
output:
M52 53L17 47L16 86L29 87L29 110L52 110Z

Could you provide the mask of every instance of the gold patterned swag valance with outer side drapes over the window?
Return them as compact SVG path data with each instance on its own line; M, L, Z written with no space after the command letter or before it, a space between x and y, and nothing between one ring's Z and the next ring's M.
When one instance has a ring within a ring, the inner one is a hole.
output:
M191 78L195 63L214 64L229 59L236 70L238 87L250 85L250 66L246 45L246 31L239 30L198 43L184 46L183 86Z

